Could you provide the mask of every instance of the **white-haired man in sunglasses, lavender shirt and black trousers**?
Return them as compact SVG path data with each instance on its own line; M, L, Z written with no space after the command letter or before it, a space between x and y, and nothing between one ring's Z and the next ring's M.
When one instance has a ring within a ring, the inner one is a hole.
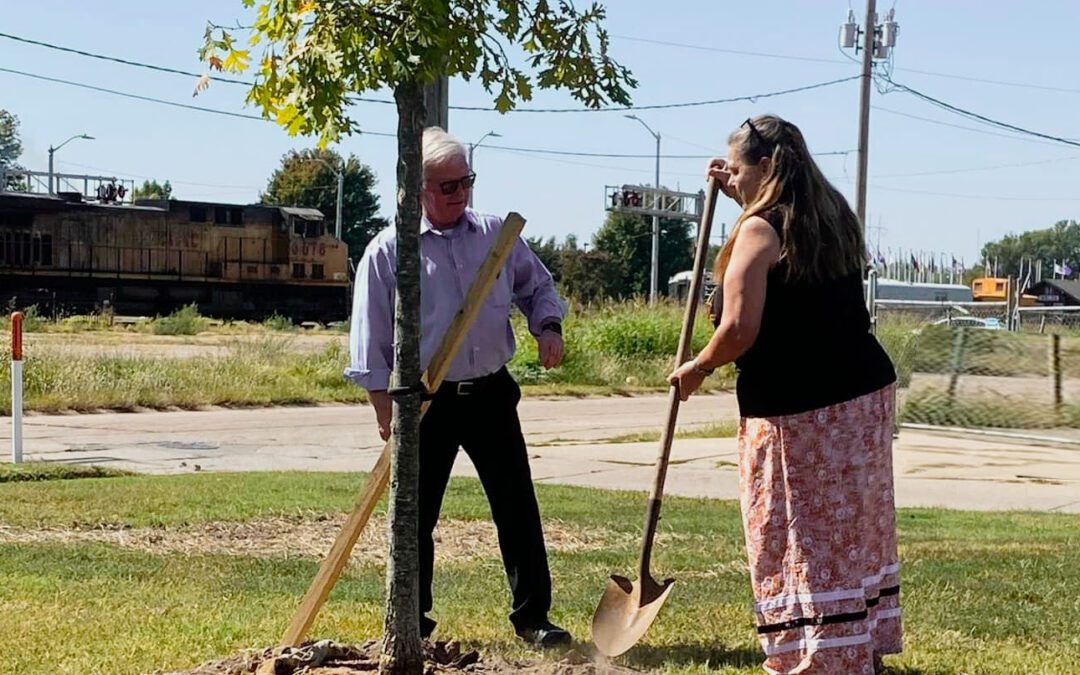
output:
M502 227L500 218L467 207L475 179L464 146L442 129L424 131L420 224L423 368ZM393 369L395 253L394 229L387 228L367 246L356 268L351 364L346 368L346 376L368 391L383 440L390 437L392 417L387 389ZM428 637L435 629L429 617L435 559L432 532L458 448L463 447L476 468L499 532L513 593L510 620L526 642L553 647L568 644L570 635L548 619L551 572L517 418L522 392L507 370L515 347L511 301L528 319L540 364L553 368L563 359L565 303L555 292L551 273L518 239L420 424L420 634Z

